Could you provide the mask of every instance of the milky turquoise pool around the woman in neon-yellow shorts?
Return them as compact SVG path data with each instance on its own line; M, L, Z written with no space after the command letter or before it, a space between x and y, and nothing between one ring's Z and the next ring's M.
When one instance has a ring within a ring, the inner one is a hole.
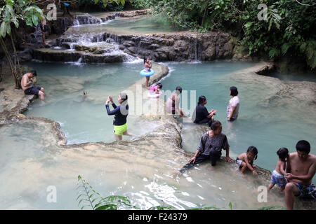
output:
M41 62L27 65L37 70L37 85L44 87L47 103L36 100L25 115L45 117L60 123L68 144L114 141L114 116L107 116L105 101L111 95L119 105L119 92L142 78L139 71L143 66L141 63L77 65ZM84 91L87 92L86 97ZM127 122L128 130L136 135L145 134L155 127L146 120L140 125L133 115L128 116Z

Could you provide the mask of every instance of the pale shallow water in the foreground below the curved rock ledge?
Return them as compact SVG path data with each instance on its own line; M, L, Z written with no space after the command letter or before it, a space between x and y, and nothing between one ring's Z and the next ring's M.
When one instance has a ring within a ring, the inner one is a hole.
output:
M103 145L58 148L45 129L44 123L31 121L0 127L1 140L6 140L6 146L0 146L4 168L0 179L6 180L0 182L0 209L79 209L78 175L104 197L124 195L140 209L163 203L176 209L198 205L228 209L229 202L233 209L284 206L275 193L268 196L268 203L258 203L257 188L266 183L242 177L236 165L219 162L215 171L202 165L173 176L187 158L161 140L147 147L146 142L138 142L116 149ZM55 187L56 202L46 200L48 186Z

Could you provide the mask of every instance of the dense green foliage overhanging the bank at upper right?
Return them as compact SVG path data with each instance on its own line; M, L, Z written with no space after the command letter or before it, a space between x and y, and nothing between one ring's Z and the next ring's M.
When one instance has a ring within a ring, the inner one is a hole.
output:
M267 20L258 20L259 3L268 6ZM315 6L302 6L294 0L151 0L149 5L178 27L230 31L250 55L303 57L311 69L316 67Z

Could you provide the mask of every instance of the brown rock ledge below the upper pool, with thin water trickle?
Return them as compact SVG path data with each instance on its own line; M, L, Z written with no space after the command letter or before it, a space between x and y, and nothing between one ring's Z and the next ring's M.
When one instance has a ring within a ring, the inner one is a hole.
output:
M138 57L150 55L154 61L209 61L232 58L230 35L223 32L208 34L116 35L105 33L119 43L120 49Z

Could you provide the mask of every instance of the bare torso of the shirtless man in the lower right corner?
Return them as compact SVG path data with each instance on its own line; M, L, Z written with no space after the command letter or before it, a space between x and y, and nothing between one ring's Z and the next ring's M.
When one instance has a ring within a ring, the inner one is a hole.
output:
M291 182L310 185L312 183L312 177L316 172L316 156L308 154L308 158L306 160L301 160L298 157L298 153L289 154L287 172L293 174L294 176L308 176L308 179L305 181L292 179Z

